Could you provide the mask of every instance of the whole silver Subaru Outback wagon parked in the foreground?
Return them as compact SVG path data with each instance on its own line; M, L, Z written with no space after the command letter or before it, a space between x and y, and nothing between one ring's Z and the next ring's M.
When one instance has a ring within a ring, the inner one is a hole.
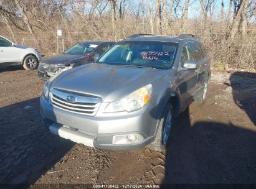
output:
M101 149L163 150L174 119L203 103L210 58L194 35L131 35L97 62L50 78L40 96L50 132Z

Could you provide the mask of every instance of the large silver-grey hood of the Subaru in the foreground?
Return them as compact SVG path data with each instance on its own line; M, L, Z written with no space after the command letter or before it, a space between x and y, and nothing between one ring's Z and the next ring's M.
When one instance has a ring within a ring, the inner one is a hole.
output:
M163 77L160 71L164 70L89 63L64 71L50 88L92 94L111 102Z

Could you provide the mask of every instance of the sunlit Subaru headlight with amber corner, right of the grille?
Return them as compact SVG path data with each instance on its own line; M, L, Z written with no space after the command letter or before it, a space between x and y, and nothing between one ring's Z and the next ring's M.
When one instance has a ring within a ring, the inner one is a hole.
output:
M151 84L143 86L142 88L134 91L133 93L128 94L124 98L109 103L108 106L105 108L104 113L114 113L120 111L131 112L141 109L148 103L151 93Z

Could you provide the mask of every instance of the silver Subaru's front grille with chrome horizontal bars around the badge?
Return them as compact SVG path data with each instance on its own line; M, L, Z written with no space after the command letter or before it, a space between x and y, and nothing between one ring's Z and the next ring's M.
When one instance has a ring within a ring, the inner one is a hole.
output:
M68 101L67 96L74 97L75 101ZM90 116L95 116L100 104L102 103L102 99L97 96L57 89L53 89L50 92L50 99L52 101L52 105L55 108L70 111L72 113L85 114Z

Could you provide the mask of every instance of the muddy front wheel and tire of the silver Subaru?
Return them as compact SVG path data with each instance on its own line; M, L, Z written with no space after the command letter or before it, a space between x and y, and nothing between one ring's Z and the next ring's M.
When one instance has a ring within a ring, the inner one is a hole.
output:
M174 109L171 103L168 103L164 109L163 118L159 122L158 132L154 142L148 145L149 149L164 151L168 147L168 139L174 125Z

